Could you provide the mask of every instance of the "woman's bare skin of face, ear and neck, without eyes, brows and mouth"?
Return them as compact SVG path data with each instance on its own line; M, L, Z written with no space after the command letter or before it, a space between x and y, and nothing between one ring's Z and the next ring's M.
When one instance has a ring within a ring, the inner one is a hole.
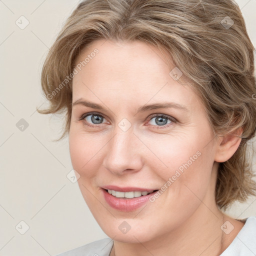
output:
M170 63L169 68L158 48L100 39L80 52L76 64L95 48L99 52L73 78L72 102L87 100L105 110L73 105L69 149L81 193L114 240L111 255L219 255L243 223L215 204L217 162L233 155L240 138L213 136L203 104L191 88L169 75L175 66ZM145 104L163 102L187 110L137 112ZM101 123L93 124L92 115L81 119L91 111L104 117ZM154 114L175 121L159 125ZM126 131L118 126L123 118L131 124ZM106 185L160 189L198 151L200 156L154 202L137 210L113 209L102 196ZM234 226L229 234L220 229L226 220ZM118 228L123 221L130 226L125 234Z

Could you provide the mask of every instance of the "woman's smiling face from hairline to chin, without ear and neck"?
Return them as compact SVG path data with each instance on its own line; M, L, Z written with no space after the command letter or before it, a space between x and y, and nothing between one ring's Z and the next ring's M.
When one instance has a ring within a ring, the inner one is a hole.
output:
M212 214L216 143L180 71L141 41L94 41L76 64L70 155L103 231L143 242Z

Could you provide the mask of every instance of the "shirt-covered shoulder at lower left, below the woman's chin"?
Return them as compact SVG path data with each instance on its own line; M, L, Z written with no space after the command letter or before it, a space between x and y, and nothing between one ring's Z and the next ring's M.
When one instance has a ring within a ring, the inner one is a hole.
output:
M108 256L112 248L113 241L110 238L97 240L75 249L60 253L56 256Z

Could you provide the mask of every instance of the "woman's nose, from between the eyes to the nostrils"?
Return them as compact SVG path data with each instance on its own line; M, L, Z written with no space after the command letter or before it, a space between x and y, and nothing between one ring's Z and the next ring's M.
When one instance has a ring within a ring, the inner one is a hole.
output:
M113 137L105 147L103 166L115 175L139 171L143 166L141 142L132 128L115 128Z

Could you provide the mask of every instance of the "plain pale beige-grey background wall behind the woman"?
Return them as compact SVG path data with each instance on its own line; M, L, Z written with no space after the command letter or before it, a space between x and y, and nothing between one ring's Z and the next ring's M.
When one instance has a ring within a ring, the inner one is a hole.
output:
M255 46L256 0L237 2ZM35 111L46 106L40 88L43 60L77 3L0 0L0 256L55 255L106 237L77 183L66 177L72 169L68 139L52 141L63 118ZM15 24L21 15L29 21L24 29ZM16 126L21 118L28 123L23 131ZM256 198L236 203L229 213L256 215ZM29 226L24 234L21 220Z

